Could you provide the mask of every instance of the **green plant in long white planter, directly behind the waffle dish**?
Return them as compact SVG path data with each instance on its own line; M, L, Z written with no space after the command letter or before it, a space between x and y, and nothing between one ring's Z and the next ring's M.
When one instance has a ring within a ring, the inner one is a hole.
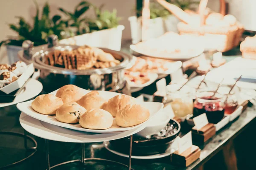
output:
M74 37L61 40L63 44L91 45L119 51L121 48L122 30L124 26L118 25L120 20L116 10L102 11L102 6L82 1L73 12L59 8L67 17L68 27L73 30ZM84 16L86 11L92 9L94 17Z

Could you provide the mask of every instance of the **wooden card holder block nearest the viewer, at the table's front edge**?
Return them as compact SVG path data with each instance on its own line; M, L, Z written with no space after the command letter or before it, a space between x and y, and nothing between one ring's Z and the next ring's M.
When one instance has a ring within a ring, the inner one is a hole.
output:
M201 150L198 146L192 145L187 150L185 150L183 153L179 154L179 151L176 150L171 155L171 162L173 164L177 164L183 167L188 167L190 164L192 164L194 161L196 161L201 154Z

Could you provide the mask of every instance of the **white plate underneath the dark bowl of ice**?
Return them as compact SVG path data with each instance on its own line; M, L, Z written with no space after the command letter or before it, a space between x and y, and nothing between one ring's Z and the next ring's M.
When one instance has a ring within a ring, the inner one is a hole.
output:
M103 142L103 144L104 144L104 147L105 147L108 151L110 151L110 152L112 152L112 153L114 153L114 154L116 154L116 155L129 158L129 155L127 155L127 154L125 154L125 153L120 153L120 152L117 152L116 150L110 149L110 148L108 147L109 142ZM131 158L132 158L132 159L158 159L158 158L163 158L163 157L169 156L169 155L171 155L172 153L174 153L176 150L177 150L177 147L176 147L176 148L173 148L172 145L171 145L171 147L170 147L168 150L166 150L165 153L159 153L159 154L147 155L147 156L134 156L134 155L132 155Z

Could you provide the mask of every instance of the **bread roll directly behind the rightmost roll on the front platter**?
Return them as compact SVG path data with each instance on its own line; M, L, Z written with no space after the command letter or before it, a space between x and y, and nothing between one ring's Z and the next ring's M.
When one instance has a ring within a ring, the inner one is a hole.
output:
M108 111L115 117L119 109L125 108L125 106L129 104L134 105L136 101L130 96L120 94L109 99L108 103L102 105L102 109Z

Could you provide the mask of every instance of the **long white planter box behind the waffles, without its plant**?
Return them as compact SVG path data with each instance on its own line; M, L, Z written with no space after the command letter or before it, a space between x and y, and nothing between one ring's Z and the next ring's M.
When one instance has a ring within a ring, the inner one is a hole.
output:
M72 38L60 40L59 42L67 45L90 45L93 47L109 48L111 50L120 51L122 31L124 28L124 26L120 25L116 28L82 34Z

